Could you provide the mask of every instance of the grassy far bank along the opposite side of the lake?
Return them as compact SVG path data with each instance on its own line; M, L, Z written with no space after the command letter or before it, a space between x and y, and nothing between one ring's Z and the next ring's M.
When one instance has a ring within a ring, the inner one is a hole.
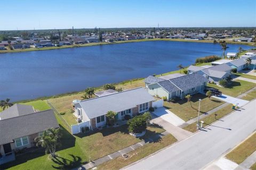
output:
M223 39L225 40L225 39ZM123 44L123 43L139 43L145 41L178 41L178 42L190 42L190 43L213 43L213 40L190 40L190 39L167 39L167 38L155 38L155 39L135 39L135 40L126 40L126 41L116 41L115 43L88 43L82 45L68 45L60 47L43 47L43 48L26 48L26 49L14 49L14 50L0 50L0 54L5 53L20 53L20 52L36 52L41 50L51 50L51 49L64 49L64 48L78 48L78 47L90 47L90 46L99 46L99 45L114 45L114 44ZM237 42L226 40L228 44L237 44L237 45L246 45L255 47L256 43L251 42Z

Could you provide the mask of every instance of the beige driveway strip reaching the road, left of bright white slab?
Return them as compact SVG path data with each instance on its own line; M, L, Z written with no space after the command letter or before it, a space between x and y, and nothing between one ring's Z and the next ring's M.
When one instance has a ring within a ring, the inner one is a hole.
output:
M183 130L178 126L175 126L170 122L163 120L163 118L161 117L154 116L154 114L152 114L152 122L161 125L167 132L171 133L178 141L186 139L193 134L192 132Z

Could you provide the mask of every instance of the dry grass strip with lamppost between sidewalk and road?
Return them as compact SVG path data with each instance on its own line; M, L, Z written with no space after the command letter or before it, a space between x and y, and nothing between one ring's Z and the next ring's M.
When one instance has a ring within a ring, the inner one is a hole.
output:
M226 116L227 114L231 113L232 111L234 111L234 110L232 109L232 104L230 104L230 105L227 105L227 106L221 108L219 111L214 112L211 115L202 118L200 121L204 121L204 126L206 126L207 124L212 124L213 122L218 121L218 119L222 118L223 116ZM216 116L217 120L215 119L214 114L218 114ZM197 124L197 122L189 124L186 127L184 127L183 129L190 131L190 132L196 132L197 131L196 124Z

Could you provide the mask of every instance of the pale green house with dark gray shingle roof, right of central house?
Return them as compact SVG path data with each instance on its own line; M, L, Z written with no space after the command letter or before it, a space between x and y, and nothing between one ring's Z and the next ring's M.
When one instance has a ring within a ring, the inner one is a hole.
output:
M171 75L171 74L170 74ZM145 79L145 87L150 95L183 99L187 94L194 95L205 89L207 79L197 73L177 75L177 77L154 77Z

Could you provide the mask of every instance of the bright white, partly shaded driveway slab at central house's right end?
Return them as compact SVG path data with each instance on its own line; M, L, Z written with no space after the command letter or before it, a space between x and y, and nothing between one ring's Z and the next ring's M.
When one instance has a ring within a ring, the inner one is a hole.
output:
M163 120L175 126L179 126L185 123L185 121L183 121L180 117L178 117L177 115L175 115L174 113L166 109L165 107L158 107L157 109L155 109L153 113L156 116L161 117Z

